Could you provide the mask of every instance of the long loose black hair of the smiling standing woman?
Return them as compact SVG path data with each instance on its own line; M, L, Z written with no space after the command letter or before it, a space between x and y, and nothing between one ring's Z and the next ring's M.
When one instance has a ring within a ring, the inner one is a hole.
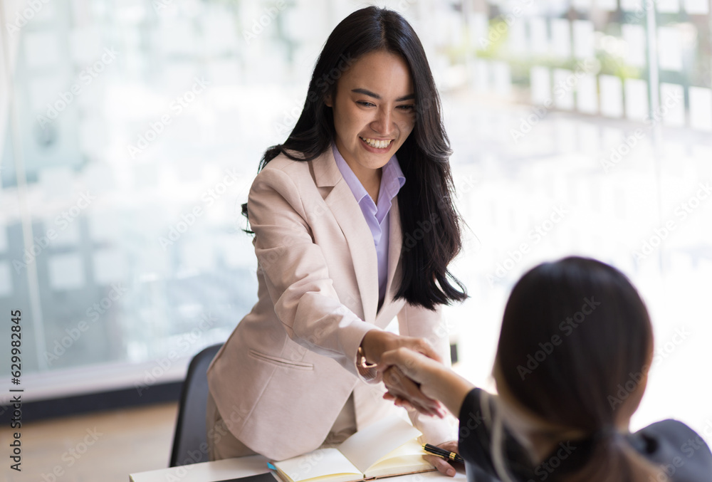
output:
M398 194L403 276L395 299L435 310L436 305L468 297L464 285L448 270L462 247L461 219L454 206L451 150L440 98L423 46L400 14L369 6L334 28L316 62L294 129L285 142L265 151L258 171L279 154L308 162L330 149L335 128L325 98L335 94L342 73L372 51L388 51L404 59L416 96L415 126L397 153L407 182ZM247 204L242 212L247 216Z

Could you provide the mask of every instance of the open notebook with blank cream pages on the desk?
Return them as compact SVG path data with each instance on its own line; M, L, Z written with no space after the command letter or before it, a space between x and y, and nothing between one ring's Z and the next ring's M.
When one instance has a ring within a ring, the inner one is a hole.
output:
M391 416L357 431L333 449L275 462L285 482L351 482L435 470L423 456L418 429Z

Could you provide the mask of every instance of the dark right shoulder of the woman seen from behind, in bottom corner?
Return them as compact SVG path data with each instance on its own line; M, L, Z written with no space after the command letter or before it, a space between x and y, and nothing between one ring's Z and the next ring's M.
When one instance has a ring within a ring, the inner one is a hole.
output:
M663 466L673 482L712 480L712 453L696 431L677 420L663 420L636 432L647 442L644 456Z

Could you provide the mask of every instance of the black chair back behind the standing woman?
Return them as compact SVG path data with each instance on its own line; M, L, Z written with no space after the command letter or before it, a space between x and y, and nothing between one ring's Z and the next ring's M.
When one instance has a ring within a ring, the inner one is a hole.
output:
M218 343L204 348L188 365L173 436L171 467L208 461L208 454L200 449L201 444L207 441L205 409L208 403L208 377L206 372L222 345Z

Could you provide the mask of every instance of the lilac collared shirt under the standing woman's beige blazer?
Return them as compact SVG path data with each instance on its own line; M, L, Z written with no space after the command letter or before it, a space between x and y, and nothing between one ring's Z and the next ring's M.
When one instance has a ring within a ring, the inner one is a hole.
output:
M391 210L393 198L396 197L400 188L405 184L405 177L398 164L395 154L388 160L382 168L381 186L378 190L378 203L371 199L363 184L358 180L356 174L346 163L336 145L332 143L336 165L341 171L341 175L346 184L354 194L356 201L361 208L366 224L371 229L373 243L376 246L376 258L378 260L378 305L383 302L386 295L386 281L388 277L388 234L389 220L387 214Z

